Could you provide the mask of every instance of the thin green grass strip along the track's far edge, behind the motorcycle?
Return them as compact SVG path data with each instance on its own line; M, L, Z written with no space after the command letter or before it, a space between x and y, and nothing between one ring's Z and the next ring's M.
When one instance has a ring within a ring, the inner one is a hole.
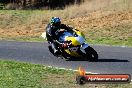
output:
M11 41L23 41L23 42L46 42L45 39L42 37L36 36L36 37L10 37L10 38L3 38L1 40L11 40ZM96 39L90 39L87 38L86 42L88 44L93 45L111 45L111 46L128 46L132 47L132 38L129 38L127 40L117 40L107 37L97 37Z

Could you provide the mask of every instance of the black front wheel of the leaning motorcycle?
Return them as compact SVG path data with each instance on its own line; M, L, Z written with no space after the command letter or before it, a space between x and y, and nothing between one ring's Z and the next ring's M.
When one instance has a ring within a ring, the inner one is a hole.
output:
M86 51L86 57L89 61L96 62L98 61L98 54L92 47L87 47L85 49Z

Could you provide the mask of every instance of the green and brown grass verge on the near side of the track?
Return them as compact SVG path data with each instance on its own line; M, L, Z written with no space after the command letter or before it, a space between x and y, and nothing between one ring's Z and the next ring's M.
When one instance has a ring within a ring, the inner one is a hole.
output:
M131 88L130 84L76 84L76 72L0 60L0 88Z

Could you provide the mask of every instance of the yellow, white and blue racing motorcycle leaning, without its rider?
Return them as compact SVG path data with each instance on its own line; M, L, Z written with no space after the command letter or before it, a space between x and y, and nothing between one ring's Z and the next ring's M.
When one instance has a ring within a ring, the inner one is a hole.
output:
M83 58L88 61L98 60L97 52L86 43L84 34L77 29L72 29L72 31L63 31L60 34L59 43L60 46L58 46L58 49L61 52L59 57L61 56L66 60L70 60L71 58ZM48 48L54 55L50 44Z

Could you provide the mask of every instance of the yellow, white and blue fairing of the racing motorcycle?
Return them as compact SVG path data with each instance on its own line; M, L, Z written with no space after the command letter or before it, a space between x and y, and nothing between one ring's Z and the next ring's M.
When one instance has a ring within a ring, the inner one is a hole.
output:
M77 53L77 49L79 45L82 45L85 42L85 36L79 30L74 30L75 33L64 32L60 41L71 41L72 48L64 49L66 53L70 54L74 57L82 57L79 53Z

